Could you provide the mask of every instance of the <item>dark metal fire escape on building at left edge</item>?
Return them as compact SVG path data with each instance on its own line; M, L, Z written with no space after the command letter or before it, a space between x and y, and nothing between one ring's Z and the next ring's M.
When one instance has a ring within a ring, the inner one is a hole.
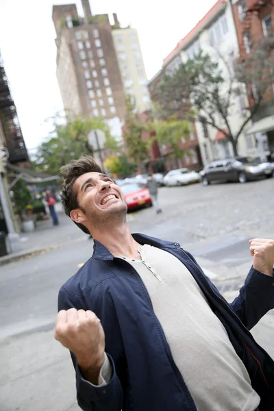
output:
M5 75L3 60L0 55L0 121L5 134L3 144L8 149L9 162L28 162L27 149L18 121L16 107L8 86L8 78Z

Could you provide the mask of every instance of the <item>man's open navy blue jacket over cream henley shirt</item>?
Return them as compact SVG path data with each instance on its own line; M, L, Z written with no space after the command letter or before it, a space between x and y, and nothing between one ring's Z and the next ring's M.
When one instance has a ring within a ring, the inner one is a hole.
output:
M133 234L140 244L177 257L206 295L261 397L260 411L274 410L274 362L249 329L274 308L274 278L251 268L239 296L229 304L177 242ZM90 260L60 289L58 310L92 310L105 331L105 350L113 366L109 384L86 382L76 371L77 400L84 411L196 411L177 369L145 285L133 267L99 242ZM184 343L184 342L182 342ZM197 370L199 373L199 370ZM224 390L225 382L223 384ZM221 404L220 404L221 409Z

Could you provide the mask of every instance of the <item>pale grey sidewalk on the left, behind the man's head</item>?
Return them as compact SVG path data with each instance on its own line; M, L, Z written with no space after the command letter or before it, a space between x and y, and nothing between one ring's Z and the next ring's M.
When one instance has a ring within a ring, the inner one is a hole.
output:
M0 257L0 266L87 238L86 234L64 214L61 203L56 203L55 210L58 214L59 225L53 225L50 218L38 221L34 232L20 233L18 240L14 243L14 252Z

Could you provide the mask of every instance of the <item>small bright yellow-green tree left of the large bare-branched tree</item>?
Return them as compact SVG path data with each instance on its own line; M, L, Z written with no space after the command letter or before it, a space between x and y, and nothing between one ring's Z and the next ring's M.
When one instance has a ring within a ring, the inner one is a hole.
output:
M177 166L179 166L178 160L186 151L179 148L179 143L182 137L188 136L191 130L188 121L177 121L174 117L167 120L155 119L149 123L149 128L155 132L155 136L149 141L149 146L153 145L154 140L157 140L160 147L168 145L171 158L175 158Z

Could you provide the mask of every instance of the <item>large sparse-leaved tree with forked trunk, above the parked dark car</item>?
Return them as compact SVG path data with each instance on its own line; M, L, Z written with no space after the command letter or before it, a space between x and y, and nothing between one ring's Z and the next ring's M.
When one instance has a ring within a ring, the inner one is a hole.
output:
M242 130L272 89L273 47L273 36L260 40L245 60L235 62L234 68L221 55L219 64L204 53L183 62L175 73L164 75L162 82L152 90L162 117L173 114L178 119L195 120L214 127L232 142L234 155L237 155ZM235 99L246 93L252 103L243 108L240 125L232 133Z

